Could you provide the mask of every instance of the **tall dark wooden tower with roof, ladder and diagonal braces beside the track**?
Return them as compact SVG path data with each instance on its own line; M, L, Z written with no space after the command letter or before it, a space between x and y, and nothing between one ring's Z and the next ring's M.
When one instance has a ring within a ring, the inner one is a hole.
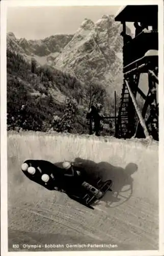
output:
M126 6L115 17L123 25L123 87L116 136L118 138L152 136L158 140L158 6ZM126 23L136 24L133 38L126 35ZM140 24L142 25L142 28ZM141 74L148 77L148 92L139 87ZM136 102L140 94L143 105Z

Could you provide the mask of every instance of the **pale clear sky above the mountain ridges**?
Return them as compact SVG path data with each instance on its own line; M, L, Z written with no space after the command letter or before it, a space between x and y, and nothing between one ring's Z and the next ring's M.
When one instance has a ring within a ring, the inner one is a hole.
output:
M85 18L96 22L103 14L115 15L121 6L8 7L7 32L17 38L43 39L74 34Z

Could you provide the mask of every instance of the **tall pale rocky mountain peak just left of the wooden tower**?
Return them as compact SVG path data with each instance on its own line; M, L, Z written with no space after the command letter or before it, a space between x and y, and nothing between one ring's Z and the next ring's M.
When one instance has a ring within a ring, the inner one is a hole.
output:
M103 15L96 23L85 19L56 59L56 68L83 82L109 84L122 72L122 26Z

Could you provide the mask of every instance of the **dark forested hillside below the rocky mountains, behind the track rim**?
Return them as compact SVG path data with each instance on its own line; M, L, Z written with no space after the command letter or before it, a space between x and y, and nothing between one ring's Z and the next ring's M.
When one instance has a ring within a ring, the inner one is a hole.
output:
M8 130L88 133L87 111L92 103L114 105L99 84L84 84L75 77L48 66L37 66L13 51L7 51ZM113 133L113 123L105 124ZM111 128L110 128L111 127Z

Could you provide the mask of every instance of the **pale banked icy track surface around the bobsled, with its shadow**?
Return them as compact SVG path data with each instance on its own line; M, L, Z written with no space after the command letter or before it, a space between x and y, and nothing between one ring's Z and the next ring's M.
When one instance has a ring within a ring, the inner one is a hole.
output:
M81 162L112 179L94 210L26 178L26 159ZM8 238L13 244L113 244L158 249L158 143L45 133L8 134ZM66 249L66 248L65 248ZM89 248L88 248L89 249ZM32 250L32 249L30 249ZM49 250L59 250L57 248ZM79 250L79 248L78 248ZM102 250L102 248L101 248ZM36 250L35 250L36 251Z

